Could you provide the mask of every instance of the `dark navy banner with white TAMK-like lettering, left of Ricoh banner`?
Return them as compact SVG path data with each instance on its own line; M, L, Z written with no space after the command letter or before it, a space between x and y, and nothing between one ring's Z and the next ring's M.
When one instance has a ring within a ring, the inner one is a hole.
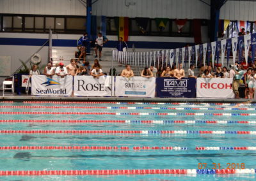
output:
M195 98L196 79L195 78L156 78L157 97L177 97L177 98Z

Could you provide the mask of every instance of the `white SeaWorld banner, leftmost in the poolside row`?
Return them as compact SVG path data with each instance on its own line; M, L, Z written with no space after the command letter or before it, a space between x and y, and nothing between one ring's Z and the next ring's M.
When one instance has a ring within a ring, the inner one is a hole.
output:
M31 78L31 94L36 96L71 96L73 87L73 76L64 78L54 75L33 75Z

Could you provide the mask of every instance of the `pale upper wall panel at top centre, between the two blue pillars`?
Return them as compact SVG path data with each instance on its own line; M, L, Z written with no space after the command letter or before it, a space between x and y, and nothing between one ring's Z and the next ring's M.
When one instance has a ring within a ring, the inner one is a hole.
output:
M210 4L210 0L204 0ZM210 6L199 0L99 0L93 15L107 17L210 18ZM134 5L132 5L134 4Z

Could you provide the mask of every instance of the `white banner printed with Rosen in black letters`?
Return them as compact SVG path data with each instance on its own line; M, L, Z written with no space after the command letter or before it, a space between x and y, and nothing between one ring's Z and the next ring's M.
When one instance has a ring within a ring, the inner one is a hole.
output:
M111 76L74 76L74 96L111 96Z

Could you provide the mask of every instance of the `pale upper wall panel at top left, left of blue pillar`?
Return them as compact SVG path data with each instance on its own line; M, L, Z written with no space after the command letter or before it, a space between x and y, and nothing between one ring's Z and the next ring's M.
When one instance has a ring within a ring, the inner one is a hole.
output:
M0 0L0 13L86 16L86 6L79 0Z

